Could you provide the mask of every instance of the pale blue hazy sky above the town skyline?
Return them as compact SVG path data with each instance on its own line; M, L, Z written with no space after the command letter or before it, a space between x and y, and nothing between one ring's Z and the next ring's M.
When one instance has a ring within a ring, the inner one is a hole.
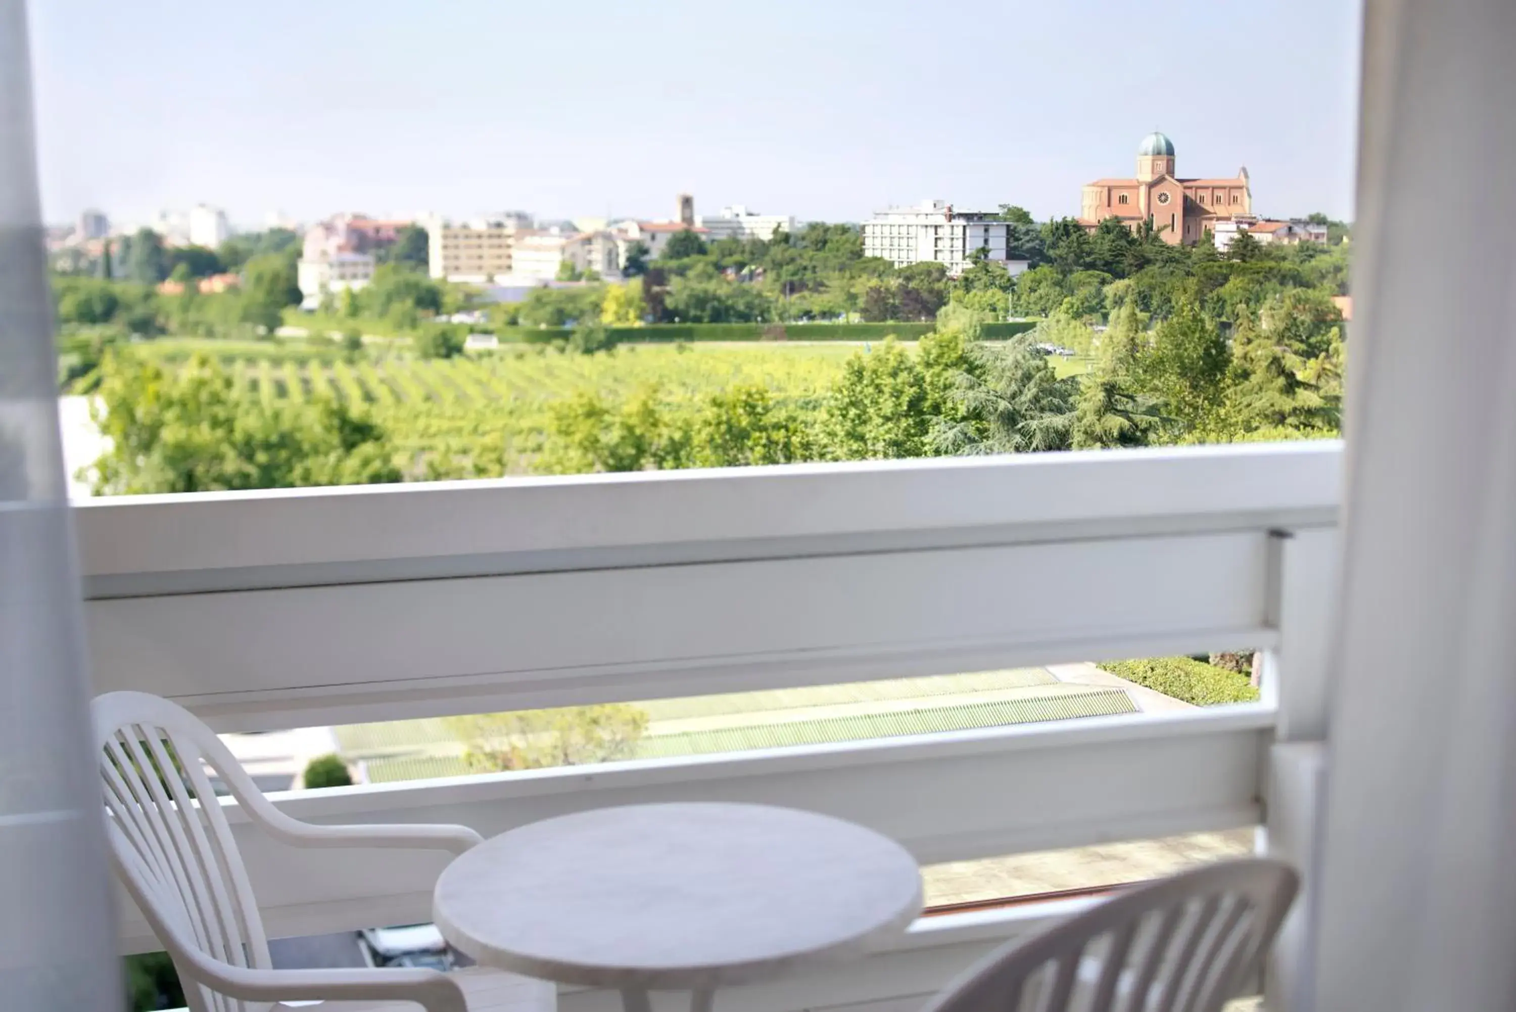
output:
M42 205L1076 214L1161 127L1352 212L1357 0L33 0ZM1110 41L1102 41L1110 39Z

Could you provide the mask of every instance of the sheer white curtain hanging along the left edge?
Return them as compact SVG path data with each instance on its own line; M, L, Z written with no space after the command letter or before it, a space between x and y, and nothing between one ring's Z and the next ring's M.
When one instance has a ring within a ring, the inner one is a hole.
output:
M0 0L0 1007L117 1012L29 73Z

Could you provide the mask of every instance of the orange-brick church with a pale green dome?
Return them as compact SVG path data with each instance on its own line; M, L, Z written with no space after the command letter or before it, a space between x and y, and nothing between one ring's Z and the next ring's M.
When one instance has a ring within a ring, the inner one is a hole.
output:
M1105 218L1120 218L1135 229L1152 218L1170 246L1193 246L1216 222L1252 218L1248 170L1233 178L1179 178L1175 174L1173 141L1154 130L1137 149L1137 176L1096 179L1084 184L1079 225L1095 229Z

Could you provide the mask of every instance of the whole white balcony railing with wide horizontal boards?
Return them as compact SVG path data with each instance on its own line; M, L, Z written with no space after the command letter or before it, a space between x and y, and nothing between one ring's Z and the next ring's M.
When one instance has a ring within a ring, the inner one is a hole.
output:
M80 504L96 689L259 730L1239 646L1263 702L291 794L493 834L637 801L828 812L923 862L1313 810L1340 445L1193 448ZM1272 750L1272 751L1270 751ZM429 916L438 857L240 822L273 935ZM723 1007L907 1003L1069 903L928 918ZM129 950L156 947L123 903ZM1281 963L1290 962L1286 939ZM612 1007L565 995L572 1012ZM905 1006L902 1006L905 1007Z

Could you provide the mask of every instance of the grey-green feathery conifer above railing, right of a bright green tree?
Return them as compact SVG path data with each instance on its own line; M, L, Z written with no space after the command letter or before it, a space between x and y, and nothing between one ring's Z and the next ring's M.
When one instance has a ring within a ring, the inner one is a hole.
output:
M999 347L979 344L973 355L978 369L961 376L957 391L969 422L937 426L932 432L937 449L952 454L1069 449L1076 379L1058 379L1026 334Z

